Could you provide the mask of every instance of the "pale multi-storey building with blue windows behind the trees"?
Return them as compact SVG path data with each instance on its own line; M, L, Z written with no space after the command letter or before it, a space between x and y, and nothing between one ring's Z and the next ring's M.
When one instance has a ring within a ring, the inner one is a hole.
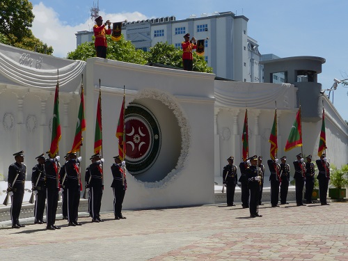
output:
M235 81L261 82L258 42L248 36L248 18L232 12L215 12L187 19L161 17L126 22L122 26L125 40L137 49L148 51L157 42L168 42L181 48L183 36L190 33L197 40L205 39L205 61L217 77ZM79 31L77 45L92 40L92 32ZM208 40L206 40L209 38Z

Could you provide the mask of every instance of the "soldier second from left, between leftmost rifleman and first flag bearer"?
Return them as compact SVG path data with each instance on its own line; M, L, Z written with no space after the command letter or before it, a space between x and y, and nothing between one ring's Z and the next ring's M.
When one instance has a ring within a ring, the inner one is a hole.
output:
M38 164L33 167L33 172L31 175L31 190L35 195L35 207L34 207L34 217L35 224L46 223L43 221L43 214L45 211L46 203L46 173L45 173L45 153L35 157L38 160Z

